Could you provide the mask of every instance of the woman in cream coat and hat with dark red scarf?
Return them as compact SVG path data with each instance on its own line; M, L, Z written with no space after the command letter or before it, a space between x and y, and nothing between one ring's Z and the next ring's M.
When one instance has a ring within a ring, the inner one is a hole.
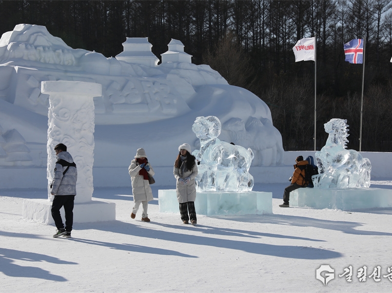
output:
M148 202L153 200L154 197L148 181L148 174L153 176L155 173L153 167L151 167L150 163L147 161L147 155L143 148L137 149L135 159L132 160L128 171L131 176L132 194L134 195L135 202L131 218L135 219L137 210L139 209L140 204L142 204L143 213L141 214L141 220L150 222L147 214Z

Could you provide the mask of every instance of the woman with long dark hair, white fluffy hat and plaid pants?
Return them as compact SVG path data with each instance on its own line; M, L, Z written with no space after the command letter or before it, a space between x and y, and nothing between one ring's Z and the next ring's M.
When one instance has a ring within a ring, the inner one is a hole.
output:
M189 144L178 146L178 150L179 154L174 163L173 173L176 178L176 193L181 220L184 224L189 224L189 219L191 219L192 225L196 225L196 158L191 154L191 146Z

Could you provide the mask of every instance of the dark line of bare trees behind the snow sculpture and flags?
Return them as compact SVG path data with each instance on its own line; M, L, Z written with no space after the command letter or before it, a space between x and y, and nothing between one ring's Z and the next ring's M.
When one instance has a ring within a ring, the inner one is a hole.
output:
M0 0L0 33L44 25L73 48L106 57L126 37L148 37L153 53L180 40L195 64L266 102L285 150L314 147L314 62L295 63L293 46L316 37L316 148L323 124L347 119L359 148L362 64L344 61L343 44L366 39L362 151L392 151L390 0Z

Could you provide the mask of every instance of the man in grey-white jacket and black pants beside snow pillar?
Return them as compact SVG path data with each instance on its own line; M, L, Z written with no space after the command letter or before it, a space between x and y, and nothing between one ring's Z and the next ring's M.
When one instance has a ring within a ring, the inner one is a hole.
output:
M55 166L55 176L51 184L51 194L55 197L52 203L52 217L57 228L53 237L59 236L71 237L72 225L74 222L74 200L76 196L76 181L78 171L76 164L69 152L67 146L58 144L55 146L58 161ZM64 207L65 227L61 219L60 209Z

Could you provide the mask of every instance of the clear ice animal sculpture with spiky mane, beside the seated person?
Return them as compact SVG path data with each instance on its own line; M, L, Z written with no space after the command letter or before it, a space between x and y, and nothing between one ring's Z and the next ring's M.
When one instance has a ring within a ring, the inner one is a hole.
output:
M327 142L315 153L318 175L313 176L315 188L369 188L372 165L353 149L346 149L349 136L347 120L331 119L324 124Z

